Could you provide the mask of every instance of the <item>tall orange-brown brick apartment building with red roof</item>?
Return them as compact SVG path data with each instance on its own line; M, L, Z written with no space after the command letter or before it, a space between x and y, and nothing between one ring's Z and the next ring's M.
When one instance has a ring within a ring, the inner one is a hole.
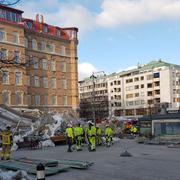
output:
M33 20L22 14L0 5L0 104L76 110L78 29L49 25L42 15Z

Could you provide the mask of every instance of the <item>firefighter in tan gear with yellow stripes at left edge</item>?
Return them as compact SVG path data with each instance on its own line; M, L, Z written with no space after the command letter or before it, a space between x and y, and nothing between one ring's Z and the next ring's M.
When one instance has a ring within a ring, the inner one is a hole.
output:
M11 127L7 126L4 131L1 132L0 138L2 141L2 151L1 151L1 160L10 159L11 146L13 144L13 137L11 132Z

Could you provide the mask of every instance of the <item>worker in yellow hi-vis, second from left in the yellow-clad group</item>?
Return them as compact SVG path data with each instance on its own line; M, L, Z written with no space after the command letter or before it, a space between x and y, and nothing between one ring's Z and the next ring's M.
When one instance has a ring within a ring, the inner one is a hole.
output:
M84 134L83 128L80 127L80 123L78 122L76 127L74 127L74 137L76 141L76 150L81 151L81 143L82 143L82 136Z

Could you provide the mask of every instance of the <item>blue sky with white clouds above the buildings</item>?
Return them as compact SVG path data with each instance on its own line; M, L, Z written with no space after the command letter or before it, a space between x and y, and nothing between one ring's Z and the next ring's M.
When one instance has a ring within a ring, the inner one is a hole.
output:
M180 0L22 0L17 8L79 28L80 78L156 59L180 64Z

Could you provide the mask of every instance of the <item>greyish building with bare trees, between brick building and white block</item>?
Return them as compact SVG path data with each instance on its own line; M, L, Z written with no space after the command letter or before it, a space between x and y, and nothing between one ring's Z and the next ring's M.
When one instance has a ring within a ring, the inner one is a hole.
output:
M107 85L106 75L79 82L80 117L94 119L94 112L97 120L109 116Z

